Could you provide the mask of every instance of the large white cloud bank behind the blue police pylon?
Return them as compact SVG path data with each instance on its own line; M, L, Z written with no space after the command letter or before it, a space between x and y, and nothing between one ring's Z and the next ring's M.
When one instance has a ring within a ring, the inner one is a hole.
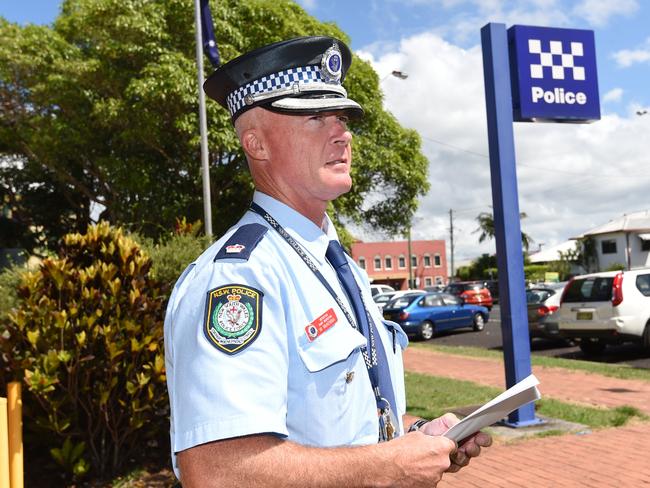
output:
M492 204L479 46L463 49L428 33L389 47L373 49L382 53L374 58L364 56L380 78L392 70L409 75L388 76L381 87L386 108L419 132L429 159L431 190L421 199L413 238L448 239L451 208L456 259L494 252L494 242L479 245L473 232L476 216ZM633 114L582 125L516 124L519 205L528 214L524 231L551 246L650 207L649 131L650 117Z

